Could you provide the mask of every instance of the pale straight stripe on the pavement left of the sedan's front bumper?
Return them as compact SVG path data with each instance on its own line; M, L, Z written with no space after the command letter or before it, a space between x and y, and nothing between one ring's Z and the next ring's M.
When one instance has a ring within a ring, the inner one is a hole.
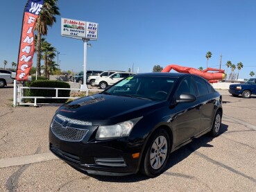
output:
M0 168L5 168L9 166L20 166L25 164L33 164L37 162L46 162L53 159L58 159L58 157L53 155L51 152L22 156L22 157L0 159Z

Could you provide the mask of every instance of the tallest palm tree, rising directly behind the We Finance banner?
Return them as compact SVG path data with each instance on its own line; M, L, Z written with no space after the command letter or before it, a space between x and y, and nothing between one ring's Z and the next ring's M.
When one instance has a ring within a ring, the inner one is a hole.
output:
M37 74L41 76L41 39L42 35L47 35L48 26L53 26L56 22L56 15L60 15L57 6L58 0L44 0L44 6L37 18L35 30L37 30Z

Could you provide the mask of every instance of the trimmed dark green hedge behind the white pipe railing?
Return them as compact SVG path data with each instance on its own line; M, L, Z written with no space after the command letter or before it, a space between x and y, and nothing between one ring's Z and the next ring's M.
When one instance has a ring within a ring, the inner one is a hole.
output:
M34 80L29 87L70 88L69 83L58 80ZM59 97L69 97L70 90L58 90ZM56 96L55 89L27 89L26 96ZM33 101L33 100L32 100ZM67 98L37 99L37 103L65 103Z

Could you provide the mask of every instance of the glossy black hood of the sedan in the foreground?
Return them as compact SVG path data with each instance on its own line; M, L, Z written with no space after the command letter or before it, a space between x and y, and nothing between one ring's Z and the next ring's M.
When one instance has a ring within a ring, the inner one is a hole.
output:
M96 94L62 105L56 113L70 119L91 122L92 125L110 125L144 116L156 110L161 103L164 102Z

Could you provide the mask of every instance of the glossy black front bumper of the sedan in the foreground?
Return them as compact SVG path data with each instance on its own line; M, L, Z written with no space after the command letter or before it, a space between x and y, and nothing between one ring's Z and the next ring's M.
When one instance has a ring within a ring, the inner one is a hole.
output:
M139 158L133 154L141 152L128 138L99 141L92 139L96 128L85 134L81 141L64 141L56 137L50 128L49 148L53 154L80 171L94 175L130 175L139 170ZM141 153L142 154L142 153Z

